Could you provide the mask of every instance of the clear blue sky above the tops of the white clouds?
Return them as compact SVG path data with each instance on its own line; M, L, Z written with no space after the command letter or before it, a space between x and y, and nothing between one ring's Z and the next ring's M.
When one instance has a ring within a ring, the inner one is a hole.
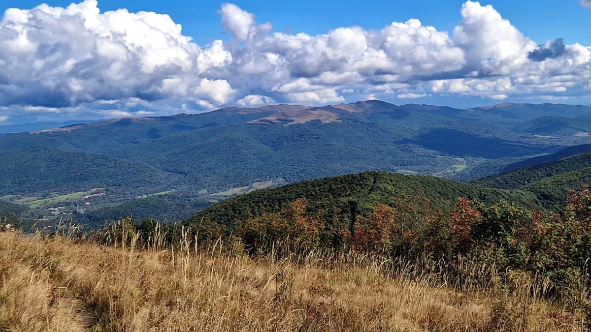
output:
M242 9L256 14L258 21L270 21L275 30L322 34L335 27L361 25L364 28L380 29L393 21L404 22L418 18L437 30L451 31L462 18L460 7L463 1L433 0L381 0L367 4L358 0L329 1L230 1ZM41 3L51 6L67 6L72 1L3 0L0 11L7 8L33 8ZM170 15L183 25L184 34L199 43L208 43L223 38L222 25L215 14L223 2L210 0L181 1L121 1L101 0L102 11L127 8L129 11L154 11ZM579 42L591 45L591 8L583 8L576 0L530 1L496 0L483 1L495 7L521 32L544 43L554 38L564 38L568 44Z

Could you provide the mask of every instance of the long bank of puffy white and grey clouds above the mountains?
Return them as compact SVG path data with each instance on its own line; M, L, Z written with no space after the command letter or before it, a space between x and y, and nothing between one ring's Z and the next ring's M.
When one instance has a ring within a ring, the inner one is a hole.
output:
M287 34L233 4L217 14L230 40L199 45L168 15L100 12L96 0L8 9L0 20L0 119L314 105L355 93L560 99L591 89L591 47L561 38L537 45L479 2L462 5L452 32L409 19L381 30Z

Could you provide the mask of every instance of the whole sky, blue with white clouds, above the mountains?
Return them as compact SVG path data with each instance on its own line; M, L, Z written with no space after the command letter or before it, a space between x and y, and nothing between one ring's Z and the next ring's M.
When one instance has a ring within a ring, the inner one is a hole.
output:
M591 104L589 0L231 3L3 0L24 11L0 21L0 125L374 97Z

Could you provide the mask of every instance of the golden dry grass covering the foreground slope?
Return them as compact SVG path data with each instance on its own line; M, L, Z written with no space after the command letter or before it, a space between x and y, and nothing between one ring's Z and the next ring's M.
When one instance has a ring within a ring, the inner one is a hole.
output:
M459 292L369 256L158 247L0 233L0 331L581 330L529 291Z

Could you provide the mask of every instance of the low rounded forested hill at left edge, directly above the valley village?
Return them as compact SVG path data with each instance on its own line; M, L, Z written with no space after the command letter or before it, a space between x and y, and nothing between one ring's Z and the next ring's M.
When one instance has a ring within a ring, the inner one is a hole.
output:
M0 196L43 196L99 187L153 193L180 180L177 174L138 162L42 146L4 152L0 160Z

